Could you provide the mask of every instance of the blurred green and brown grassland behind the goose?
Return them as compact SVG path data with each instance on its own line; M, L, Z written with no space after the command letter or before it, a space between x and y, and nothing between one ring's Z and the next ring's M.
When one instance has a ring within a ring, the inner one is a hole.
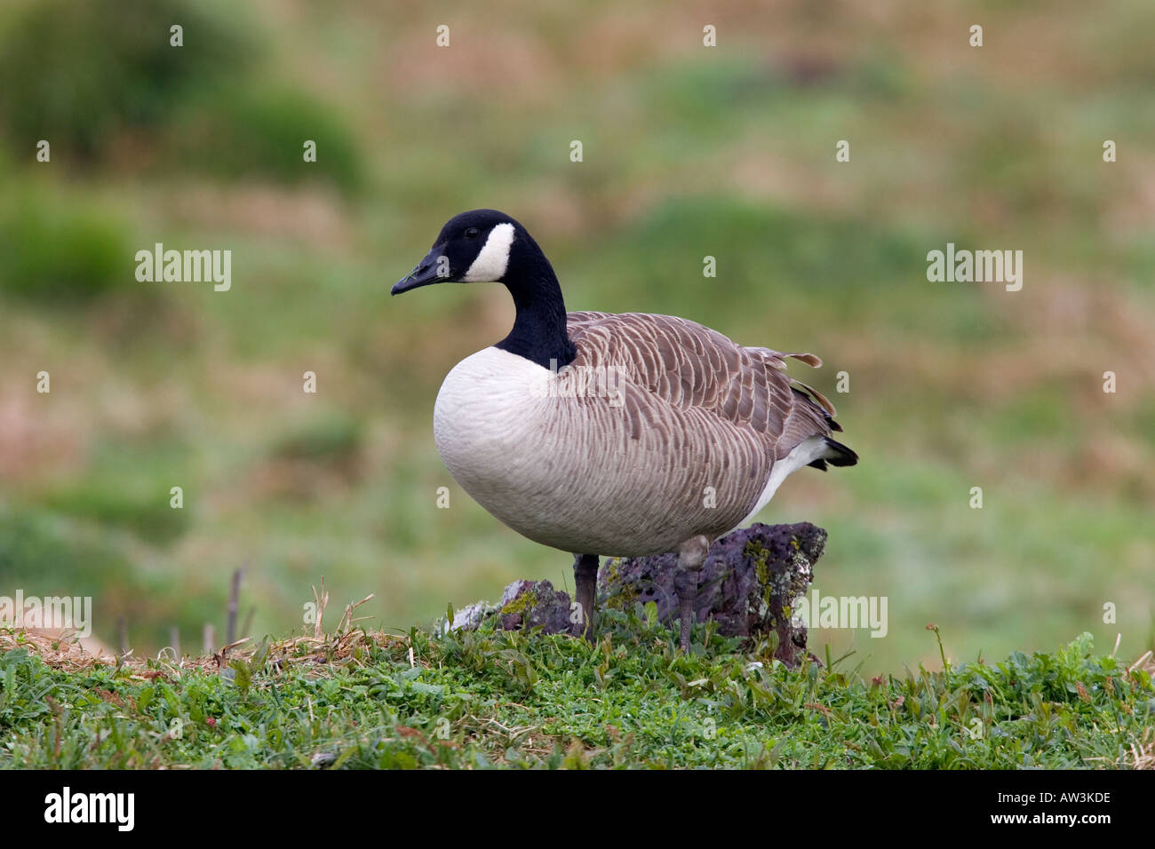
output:
M889 633L813 632L820 654L938 665L934 621L961 658L1082 631L1138 655L1153 31L1148 0L8 0L0 594L92 595L97 635L125 617L140 654L173 625L186 649L223 634L246 563L256 635L300 628L322 575L334 608L375 593L360 612L403 628L514 578L572 587L569 557L485 514L433 447L440 380L505 335L508 296L388 296L484 206L526 223L572 310L825 358L792 372L862 462L793 476L760 519L826 527L819 590L887 596ZM231 250L231 291L136 282L157 241ZM927 282L947 241L1022 250L1022 291Z

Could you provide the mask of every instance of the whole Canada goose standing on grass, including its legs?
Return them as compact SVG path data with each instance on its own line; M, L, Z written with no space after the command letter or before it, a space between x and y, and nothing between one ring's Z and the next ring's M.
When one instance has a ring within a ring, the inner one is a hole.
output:
M449 219L392 290L500 282L513 330L449 372L433 437L449 474L492 515L574 554L588 639L601 556L678 553L681 649L698 568L804 466L854 466L834 407L783 372L810 353L745 348L673 315L566 313L553 268L493 209ZM569 366L568 370L565 366Z

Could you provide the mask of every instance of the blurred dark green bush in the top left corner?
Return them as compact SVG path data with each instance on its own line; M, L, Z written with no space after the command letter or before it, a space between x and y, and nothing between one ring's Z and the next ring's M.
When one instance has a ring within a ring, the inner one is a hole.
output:
M119 134L155 128L191 91L236 77L251 33L219 3L186 0L46 0L0 20L0 124L21 147L54 155L114 154ZM244 16L241 16L244 17ZM179 23L185 45L170 46ZM54 61L42 62L44 57ZM31 69L36 68L36 72Z

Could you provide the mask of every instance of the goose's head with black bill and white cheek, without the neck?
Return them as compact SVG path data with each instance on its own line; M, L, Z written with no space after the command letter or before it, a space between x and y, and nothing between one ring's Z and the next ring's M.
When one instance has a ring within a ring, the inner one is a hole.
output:
M514 245L528 237L526 228L495 209L474 209L455 215L441 228L425 259L394 284L392 293L400 295L431 283L502 281L509 271ZM517 245L519 253L522 247Z

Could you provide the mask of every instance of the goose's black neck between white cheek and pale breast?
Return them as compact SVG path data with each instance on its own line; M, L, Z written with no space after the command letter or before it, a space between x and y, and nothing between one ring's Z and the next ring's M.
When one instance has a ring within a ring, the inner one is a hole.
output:
M566 334L566 304L561 286L542 248L524 230L517 233L502 280L513 296L517 316L509 335L497 343L544 368L569 365L578 349Z

